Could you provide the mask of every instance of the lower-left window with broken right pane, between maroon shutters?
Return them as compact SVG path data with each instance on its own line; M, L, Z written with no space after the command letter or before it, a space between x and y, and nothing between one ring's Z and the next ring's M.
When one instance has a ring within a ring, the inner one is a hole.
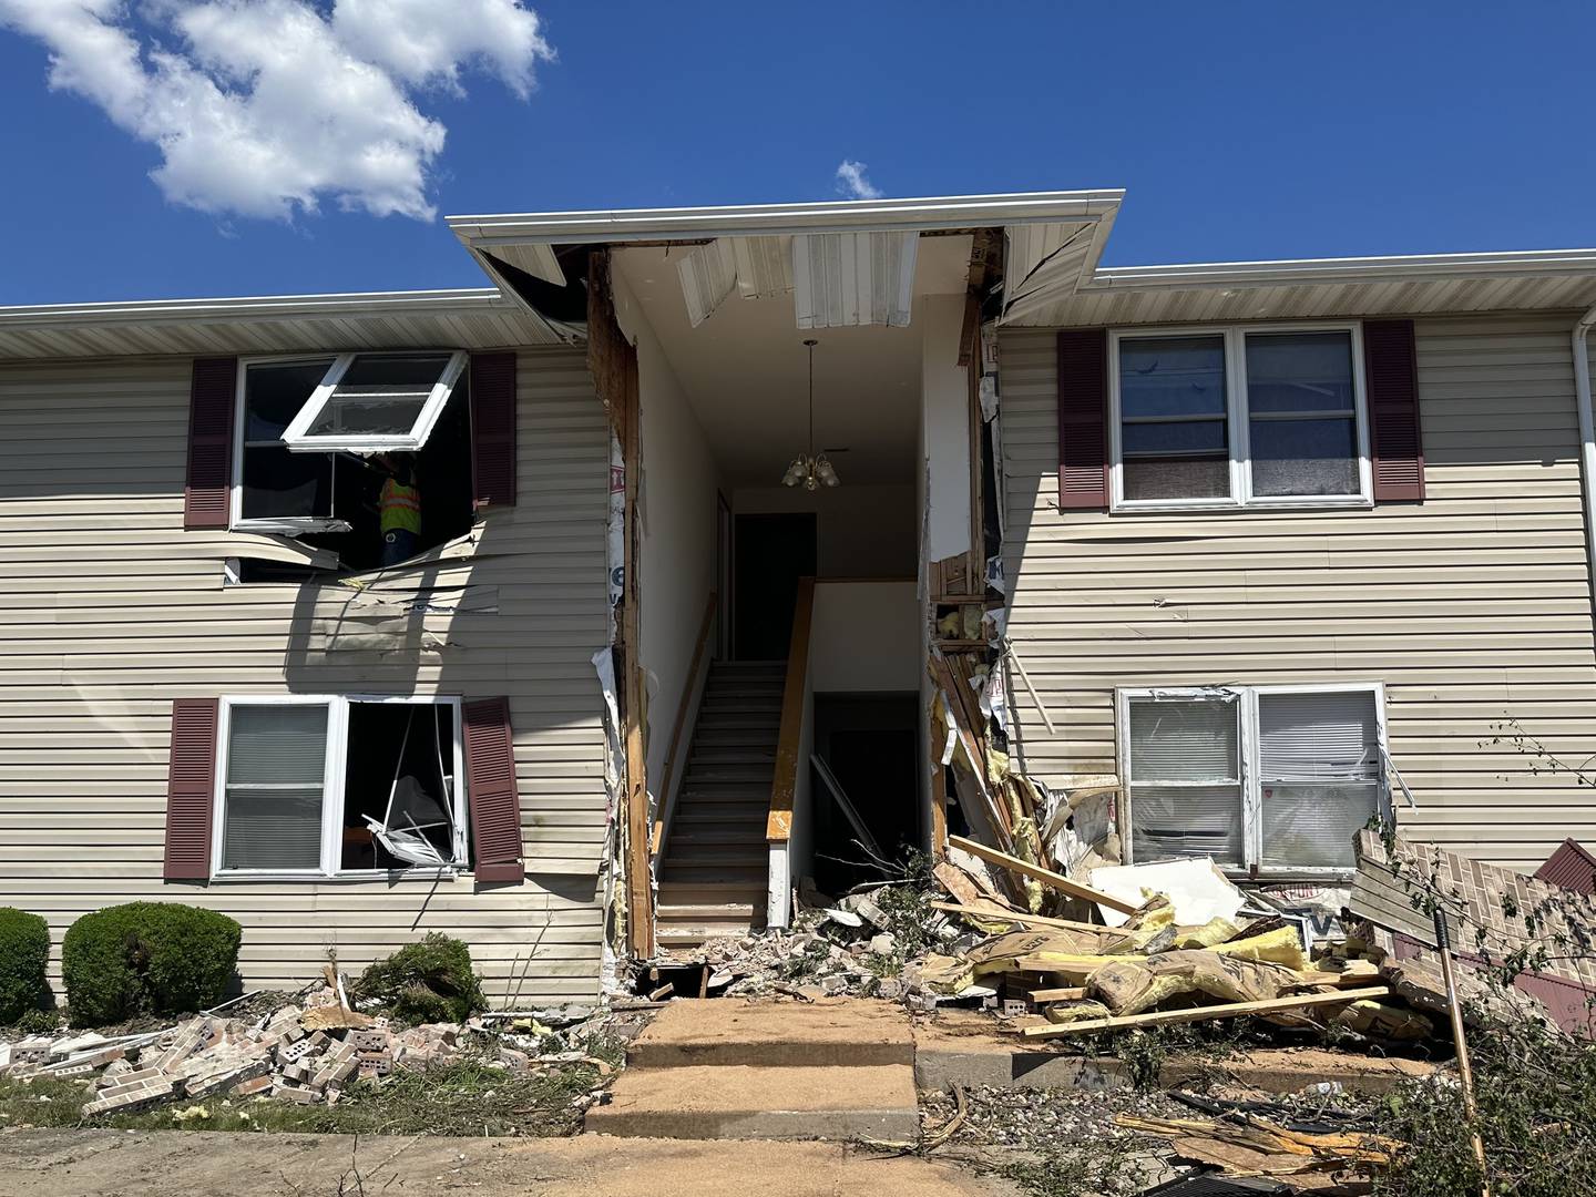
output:
M215 871L468 867L458 699L222 705Z

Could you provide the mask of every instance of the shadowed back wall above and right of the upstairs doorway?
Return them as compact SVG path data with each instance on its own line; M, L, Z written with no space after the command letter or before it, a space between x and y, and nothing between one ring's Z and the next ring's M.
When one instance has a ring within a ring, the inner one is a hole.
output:
M822 578L913 578L918 567L915 487L843 485L835 490L801 487L741 487L733 493L739 516L771 511L816 512Z

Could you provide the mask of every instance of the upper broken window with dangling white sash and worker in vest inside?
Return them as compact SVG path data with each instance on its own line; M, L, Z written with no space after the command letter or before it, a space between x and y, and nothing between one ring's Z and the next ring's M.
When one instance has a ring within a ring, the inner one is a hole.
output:
M463 353L361 353L243 364L233 528L300 538L338 568L393 565L469 530ZM399 533L399 535L394 535ZM308 567L246 562L243 581Z

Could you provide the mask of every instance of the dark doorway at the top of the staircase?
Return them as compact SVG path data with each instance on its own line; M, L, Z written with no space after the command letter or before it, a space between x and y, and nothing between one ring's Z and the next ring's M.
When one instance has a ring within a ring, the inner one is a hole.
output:
M785 661L798 579L819 567L812 511L737 516L734 611L739 661Z

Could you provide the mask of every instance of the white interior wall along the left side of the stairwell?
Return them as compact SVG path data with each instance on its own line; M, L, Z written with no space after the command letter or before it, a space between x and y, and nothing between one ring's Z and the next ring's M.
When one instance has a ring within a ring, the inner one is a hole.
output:
M664 803L658 784L670 750L670 729L688 669L715 589L715 493L720 479L709 439L693 404L677 381L659 337L626 284L614 273L616 318L637 345L642 409L642 645L648 670L648 788ZM688 712L683 741L691 736Z

